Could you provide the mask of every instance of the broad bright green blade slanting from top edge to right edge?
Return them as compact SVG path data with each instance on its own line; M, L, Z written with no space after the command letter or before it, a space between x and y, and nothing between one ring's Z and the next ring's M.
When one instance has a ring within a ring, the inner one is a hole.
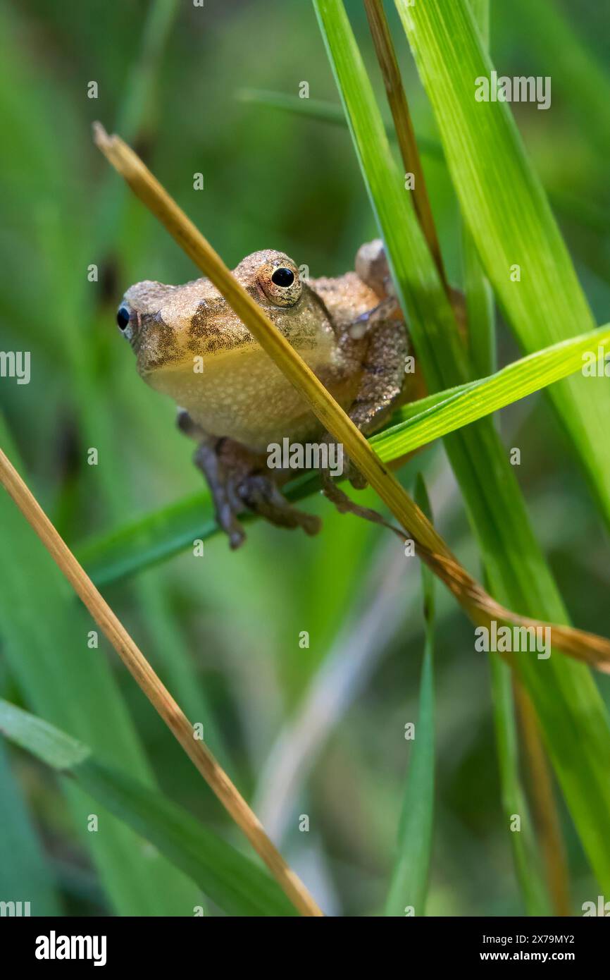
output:
M475 100L475 79L489 78L493 63L468 3L397 0L397 8L462 215L523 350L591 329L587 300L508 105ZM515 266L520 281L511 281ZM610 453L599 440L610 416L610 387L575 375L549 395L610 523Z

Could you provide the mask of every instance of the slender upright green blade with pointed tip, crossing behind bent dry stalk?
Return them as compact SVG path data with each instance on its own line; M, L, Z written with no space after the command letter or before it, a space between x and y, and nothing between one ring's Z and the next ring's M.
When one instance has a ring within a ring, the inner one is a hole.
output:
M421 475L415 501L431 517ZM386 915L423 915L428 891L434 817L434 575L422 564L425 642L419 687L419 712L408 763L399 826L398 858L393 872Z

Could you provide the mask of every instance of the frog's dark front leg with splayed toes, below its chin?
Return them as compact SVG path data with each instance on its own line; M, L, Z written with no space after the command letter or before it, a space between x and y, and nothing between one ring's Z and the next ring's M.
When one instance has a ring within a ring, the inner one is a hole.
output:
M306 534L317 534L319 517L298 511L286 500L279 489L286 474L269 469L263 454L251 452L234 439L209 435L184 409L178 410L177 424L199 443L193 461L210 486L216 520L232 549L239 548L246 538L238 520L245 510L279 527L303 527Z

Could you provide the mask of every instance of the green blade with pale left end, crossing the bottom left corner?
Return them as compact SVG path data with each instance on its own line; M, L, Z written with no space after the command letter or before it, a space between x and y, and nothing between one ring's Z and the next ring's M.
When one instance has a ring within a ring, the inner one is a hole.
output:
M229 915L295 915L278 885L187 810L94 759L91 750L40 718L0 701L0 731L70 776L94 800L146 838ZM197 903L199 904L199 903ZM183 907L192 915L193 907Z

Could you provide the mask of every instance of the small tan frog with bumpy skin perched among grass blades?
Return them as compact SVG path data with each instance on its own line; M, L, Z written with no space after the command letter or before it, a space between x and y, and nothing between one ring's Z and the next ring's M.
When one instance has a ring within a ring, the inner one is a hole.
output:
M273 285L277 268L294 270L291 288ZM303 282L288 256L265 250L233 274L356 425L370 432L403 394L407 336L381 242L362 246L356 270ZM139 282L122 306L139 373L176 402L180 428L199 443L195 463L231 546L243 540L237 515L245 508L316 533L318 519L297 511L279 491L294 470L269 470L265 457L269 443L285 437L319 441L322 427L210 280ZM203 371L194 370L197 358Z

